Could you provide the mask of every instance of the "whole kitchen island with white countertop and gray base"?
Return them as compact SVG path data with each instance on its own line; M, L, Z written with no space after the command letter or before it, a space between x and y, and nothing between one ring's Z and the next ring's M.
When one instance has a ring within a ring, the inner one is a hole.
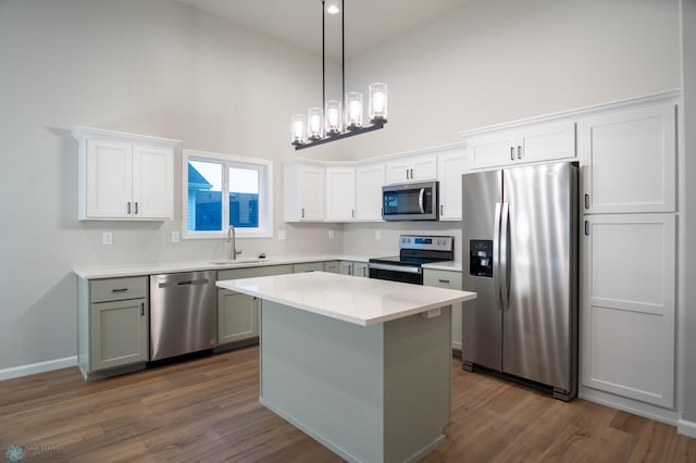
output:
M217 286L262 301L263 405L353 462L418 461L444 441L449 305L474 292L323 272Z

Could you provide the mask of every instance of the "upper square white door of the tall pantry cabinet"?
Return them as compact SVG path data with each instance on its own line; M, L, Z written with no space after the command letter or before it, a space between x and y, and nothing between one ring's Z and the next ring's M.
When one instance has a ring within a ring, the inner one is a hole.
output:
M675 113L659 103L580 120L585 213L675 210Z

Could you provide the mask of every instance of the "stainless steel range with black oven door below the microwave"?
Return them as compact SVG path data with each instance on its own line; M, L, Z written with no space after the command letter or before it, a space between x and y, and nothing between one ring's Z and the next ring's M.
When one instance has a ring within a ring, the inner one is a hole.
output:
M370 278L422 285L421 265L452 260L455 237L401 235L399 255L370 259L368 268Z

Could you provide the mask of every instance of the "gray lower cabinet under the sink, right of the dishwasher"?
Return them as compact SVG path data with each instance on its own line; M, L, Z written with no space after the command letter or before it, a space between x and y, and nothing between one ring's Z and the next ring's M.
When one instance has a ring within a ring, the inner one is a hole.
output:
M217 272L217 280L253 278L293 273L293 265L269 265ZM248 295L217 289L219 346L248 341L259 336L259 301Z

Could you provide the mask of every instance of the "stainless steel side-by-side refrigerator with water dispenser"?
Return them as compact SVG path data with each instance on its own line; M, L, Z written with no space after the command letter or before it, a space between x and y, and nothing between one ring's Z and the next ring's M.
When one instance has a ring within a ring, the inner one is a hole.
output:
M577 393L577 167L464 174L462 366Z

